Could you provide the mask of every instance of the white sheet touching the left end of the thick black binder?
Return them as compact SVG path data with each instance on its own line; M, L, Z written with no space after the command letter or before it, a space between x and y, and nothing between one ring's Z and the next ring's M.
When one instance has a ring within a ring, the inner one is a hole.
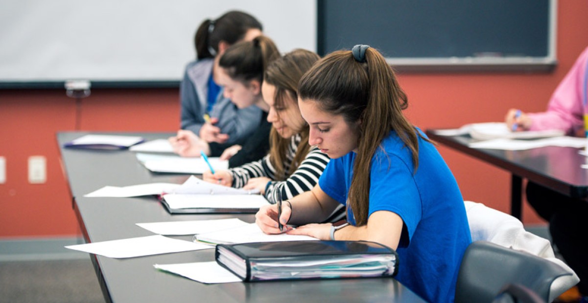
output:
M168 271L188 279L206 284L241 282L232 272L220 266L217 262L195 262L181 264L155 264L158 270Z

